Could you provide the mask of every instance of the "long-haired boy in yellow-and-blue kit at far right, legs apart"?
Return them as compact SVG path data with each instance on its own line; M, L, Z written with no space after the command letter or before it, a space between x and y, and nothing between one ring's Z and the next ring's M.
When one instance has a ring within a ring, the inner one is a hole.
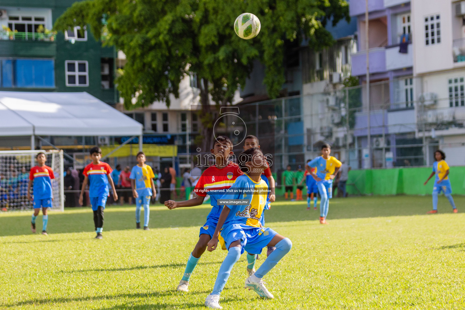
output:
M433 210L428 211L428 214L438 213L438 194L444 192L444 196L449 200L449 203L452 205L452 211L457 213L457 207L454 203L454 198L452 198L452 186L451 181L449 180L449 165L445 162L445 153L441 150L434 152L434 159L436 161L433 164L433 171L431 172L429 178L425 181L423 185L426 185L430 178L433 175L436 175L434 178L433 186Z

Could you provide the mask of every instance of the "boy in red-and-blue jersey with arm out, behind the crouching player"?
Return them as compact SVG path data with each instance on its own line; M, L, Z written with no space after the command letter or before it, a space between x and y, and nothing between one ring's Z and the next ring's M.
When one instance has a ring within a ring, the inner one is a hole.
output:
M222 206L218 205L217 199L221 198L225 190L231 187L236 178L242 174L239 166L228 159L233 155L233 143L228 137L217 137L210 152L215 157L215 165L208 167L200 176L194 188L197 197L185 201L176 202L168 200L165 202L165 205L170 210L181 207L192 207L202 204L206 195L209 195L210 204L212 205L212 210L206 218L206 223L200 227L199 241L187 259L186 270L179 281L178 291L189 291L191 274L200 257L205 252L208 241L213 236L222 209Z

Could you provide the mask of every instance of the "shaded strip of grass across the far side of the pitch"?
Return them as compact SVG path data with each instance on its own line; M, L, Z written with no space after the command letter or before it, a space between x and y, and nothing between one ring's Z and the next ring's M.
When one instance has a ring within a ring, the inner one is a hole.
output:
M465 198L454 197L457 204L465 203ZM431 209L431 197L429 196L370 196L333 198L330 200L328 220L345 218L372 218L391 216L425 215ZM447 208L446 208L447 206ZM158 205L157 205L158 207ZM105 213L104 231L129 230L135 228L134 211L128 211L127 206L110 206L111 211ZM120 211L118 210L120 209ZM176 227L200 227L206 221L210 208L180 208L168 210L154 208L150 211L151 228L176 228ZM449 210L445 198L439 199L439 212L452 213ZM426 215L425 215L426 216ZM435 215L432 215L435 216ZM293 221L316 221L319 219L319 210L306 210L306 202L291 202L278 200L272 203L272 208L265 212L267 223L293 222ZM41 221L38 222L38 230L41 229ZM292 224L291 224L292 225ZM0 236L18 236L31 234L29 214L18 214L14 216L0 216ZM272 225L271 225L272 226ZM53 213L49 216L47 232L73 233L93 232L93 214L88 212L63 212ZM141 233L151 233L142 232ZM51 241L51 240L50 240ZM34 241L35 242L35 241ZM1 244L0 240L0 244Z

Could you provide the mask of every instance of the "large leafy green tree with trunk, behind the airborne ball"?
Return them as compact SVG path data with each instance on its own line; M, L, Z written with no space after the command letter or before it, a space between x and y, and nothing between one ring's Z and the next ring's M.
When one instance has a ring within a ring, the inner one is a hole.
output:
M234 20L244 12L261 22L252 40L234 33ZM195 75L205 150L210 148L216 106L232 101L254 59L266 66L264 83L275 98L285 82L285 40L305 37L315 48L330 46L333 39L324 26L343 18L349 20L345 0L86 0L69 7L54 29L89 25L100 38L105 27L105 44L126 54L126 66L116 79L126 109L155 100L169 106L169 95L178 97L185 74Z

